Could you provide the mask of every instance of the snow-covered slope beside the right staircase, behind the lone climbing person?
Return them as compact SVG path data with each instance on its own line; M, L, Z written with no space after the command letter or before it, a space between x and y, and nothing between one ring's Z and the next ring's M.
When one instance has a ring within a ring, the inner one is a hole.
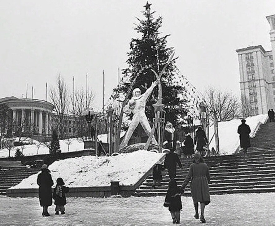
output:
M253 117L246 118L246 124L250 126L251 133L250 137L255 137L255 134L260 124L264 124L268 118L267 114L256 115ZM219 130L219 146L220 155L232 155L239 147L240 140L239 134L237 133L238 126L241 124L240 119L233 119L231 121L218 122ZM214 126L209 128L209 140L214 134ZM209 148L214 147L216 150L215 136L209 144Z

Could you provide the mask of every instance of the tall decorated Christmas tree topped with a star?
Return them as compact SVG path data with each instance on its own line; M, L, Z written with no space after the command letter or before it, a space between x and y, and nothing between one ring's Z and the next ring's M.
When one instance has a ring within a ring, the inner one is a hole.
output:
M122 70L122 74L129 79L132 87L139 87L142 92L155 81L155 75L151 69L157 74L163 69L169 55L173 51L173 47L167 47L167 38L169 35L161 36L159 28L162 25L162 17L154 18L155 11L150 12L151 4L144 6L146 9L142 11L144 19L137 18L138 23L135 24L134 30L137 31L139 38L133 38L130 42L130 51L128 53L128 68ZM179 117L186 114L186 92L184 87L178 86L173 82L175 74L175 62L173 59L165 69L161 77L162 84L162 103L165 105L166 121L172 122L173 125L179 123ZM129 91L129 83L121 85L119 92ZM181 95L181 98L179 97ZM157 101L158 89L156 88L146 103L146 116L149 121L153 121L155 117L152 104ZM129 95L131 98L131 94Z

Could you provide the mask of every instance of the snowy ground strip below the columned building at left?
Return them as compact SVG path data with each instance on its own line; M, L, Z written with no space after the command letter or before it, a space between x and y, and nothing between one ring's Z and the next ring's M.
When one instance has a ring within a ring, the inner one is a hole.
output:
M17 141L18 141L18 138L17 138ZM70 145L68 145L69 142L70 142ZM78 139L78 138L59 140L59 144L60 144L61 152L80 151L84 149L84 143L81 141L81 139ZM11 156L14 156L16 149L19 149L24 154L24 156L49 154L49 148L46 146L46 144L40 143L39 141L36 141L36 140L33 140L33 144L14 147L11 150ZM8 156L9 156L9 151L6 148L0 149L0 158L4 158Z

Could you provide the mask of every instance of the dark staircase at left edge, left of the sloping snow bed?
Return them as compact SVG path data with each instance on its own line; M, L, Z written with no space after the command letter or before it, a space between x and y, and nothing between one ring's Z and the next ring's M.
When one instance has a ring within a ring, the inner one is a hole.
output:
M0 170L0 195L6 195L6 190L12 186L19 184L24 178L35 173L38 169L15 168Z

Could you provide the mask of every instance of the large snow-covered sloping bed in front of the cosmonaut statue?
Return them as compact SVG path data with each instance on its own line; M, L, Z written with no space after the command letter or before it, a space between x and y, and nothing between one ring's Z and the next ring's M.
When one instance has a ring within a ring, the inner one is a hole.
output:
M163 153L144 150L108 157L82 156L55 161L49 170L54 182L62 177L69 187L110 186L111 181L134 185L162 156ZM11 189L38 188L37 175Z

